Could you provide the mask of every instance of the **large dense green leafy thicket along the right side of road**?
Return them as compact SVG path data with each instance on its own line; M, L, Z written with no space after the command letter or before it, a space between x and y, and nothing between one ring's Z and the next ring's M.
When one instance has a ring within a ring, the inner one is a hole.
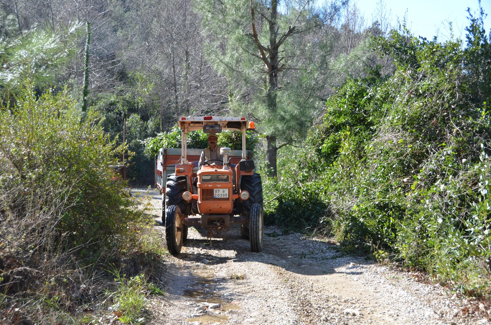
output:
M345 82L304 148L265 182L270 222L331 232L467 295L491 291L490 36L483 13L466 41L402 26L372 49L393 57ZM320 213L319 211L320 210Z

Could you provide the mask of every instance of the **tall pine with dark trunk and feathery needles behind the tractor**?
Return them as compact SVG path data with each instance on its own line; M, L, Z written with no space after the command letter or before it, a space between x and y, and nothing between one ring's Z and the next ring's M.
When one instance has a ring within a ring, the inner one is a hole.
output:
M208 57L227 76L230 105L239 99L238 107L262 122L268 167L276 176L277 150L304 132L319 108L316 87L325 86L320 72L333 53L329 34L345 3L323 8L310 0L198 3L211 37Z

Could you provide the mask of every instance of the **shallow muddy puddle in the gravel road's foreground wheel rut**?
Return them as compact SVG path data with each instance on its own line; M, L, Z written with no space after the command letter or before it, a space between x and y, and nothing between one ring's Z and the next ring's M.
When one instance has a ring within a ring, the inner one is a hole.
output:
M188 322L202 322L203 324L207 323L223 323L228 320L228 315L220 314L225 313L229 310L237 310L241 307L237 304L230 303L229 300L223 299L223 295L219 294L216 291L212 291L212 288L208 288L213 284L217 283L214 280L213 274L206 272L208 270L202 269L203 271L193 272L195 276L191 288L184 290L184 297L191 297L196 300L196 303L200 302L210 302L210 303L219 303L220 307L217 309L208 309L210 314L202 314L196 317L191 317L186 319ZM205 271L206 270L206 271ZM209 290L208 290L209 289ZM215 313L216 314L213 314Z

